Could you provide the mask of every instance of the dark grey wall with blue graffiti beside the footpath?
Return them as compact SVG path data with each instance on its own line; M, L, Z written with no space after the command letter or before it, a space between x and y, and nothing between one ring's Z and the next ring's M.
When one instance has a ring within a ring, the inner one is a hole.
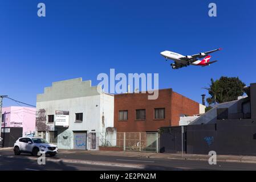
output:
M256 155L253 119L229 119L210 125L188 125L188 154Z

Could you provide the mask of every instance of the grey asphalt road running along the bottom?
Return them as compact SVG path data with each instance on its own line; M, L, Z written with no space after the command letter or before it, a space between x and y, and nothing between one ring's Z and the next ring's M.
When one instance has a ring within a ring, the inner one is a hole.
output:
M217 162L217 165L209 165L208 162L198 160L152 159L91 154L47 156L45 165L39 165L37 159L37 157L30 154L15 156L13 151L0 151L0 170L256 170L256 164L249 163ZM77 161L95 164L84 164Z

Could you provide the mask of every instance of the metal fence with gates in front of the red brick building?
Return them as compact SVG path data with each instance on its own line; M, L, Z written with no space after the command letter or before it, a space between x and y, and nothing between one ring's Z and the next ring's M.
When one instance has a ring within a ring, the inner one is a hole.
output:
M113 132L101 133L100 145L120 147L124 151L158 152L157 132Z

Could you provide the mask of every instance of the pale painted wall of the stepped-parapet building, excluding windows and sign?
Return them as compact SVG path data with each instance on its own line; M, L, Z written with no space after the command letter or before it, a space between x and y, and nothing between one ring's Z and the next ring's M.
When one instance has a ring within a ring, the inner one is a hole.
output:
M91 150L91 133L96 133L98 150L100 133L106 127L113 127L113 96L98 93L91 81L82 81L82 78L54 82L44 92L37 97L36 130L46 131L46 139L47 131L58 131L58 147L64 149L74 148L74 132L79 132L87 133L87 149ZM47 115L55 115L56 110L70 112L68 128L48 123ZM83 122L75 122L75 113L83 113Z

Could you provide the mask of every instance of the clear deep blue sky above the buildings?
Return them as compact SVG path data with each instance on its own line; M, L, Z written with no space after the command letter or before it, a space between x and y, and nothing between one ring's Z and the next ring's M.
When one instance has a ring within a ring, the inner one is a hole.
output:
M46 17L37 5L46 5ZM208 16L210 2L217 17ZM201 102L210 78L238 76L256 82L256 1L56 1L0 2L0 94L36 104L54 81L99 73L159 73L160 88ZM160 52L213 53L210 67L170 68ZM4 100L4 106L16 105Z

